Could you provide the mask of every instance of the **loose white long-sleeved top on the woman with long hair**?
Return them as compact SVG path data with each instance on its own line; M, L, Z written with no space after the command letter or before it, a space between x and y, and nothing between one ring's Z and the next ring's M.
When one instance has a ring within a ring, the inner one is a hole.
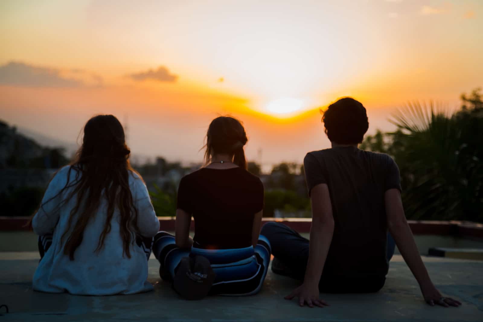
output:
M42 203L56 196L65 186L70 166L62 168L50 182ZM75 180L76 170L71 169L70 182ZM79 174L81 175L81 174ZM129 187L138 211L137 224L143 237L153 237L159 230L159 221L154 212L147 188L141 178L129 172ZM77 202L73 196L57 207L70 195L71 187L47 202L35 214L32 227L38 235L52 234L52 245L33 276L33 289L37 291L82 295L134 294L153 289L147 281L148 263L142 247L135 241L130 246L131 258L123 256L123 240L120 235L119 210L114 211L111 231L106 235L104 246L95 252L99 236L104 229L107 216L107 200L101 199L96 215L84 230L82 243L74 253L74 260L63 253L60 239L66 230L72 208ZM79 211L81 212L81 211ZM74 216L78 216L79 212ZM76 218L73 218L72 227ZM135 238L133 238L135 239Z

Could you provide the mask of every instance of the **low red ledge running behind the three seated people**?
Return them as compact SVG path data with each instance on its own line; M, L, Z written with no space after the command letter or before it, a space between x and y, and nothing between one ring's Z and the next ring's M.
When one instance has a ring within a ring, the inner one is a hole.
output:
M174 231L174 217L158 217L162 230ZM0 216L0 231L28 231L31 227L27 224L29 217L5 217ZM263 218L262 224L279 222L297 230L300 233L310 232L311 218ZM483 224L459 221L415 221L409 220L414 235L439 235L465 238L483 238ZM191 222L191 230L194 230L194 222Z

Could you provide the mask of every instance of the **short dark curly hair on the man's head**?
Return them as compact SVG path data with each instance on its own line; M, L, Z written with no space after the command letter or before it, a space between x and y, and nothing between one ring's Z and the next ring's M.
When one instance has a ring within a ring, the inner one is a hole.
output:
M361 143L369 128L366 108L349 97L330 104L322 122L329 140L339 144Z

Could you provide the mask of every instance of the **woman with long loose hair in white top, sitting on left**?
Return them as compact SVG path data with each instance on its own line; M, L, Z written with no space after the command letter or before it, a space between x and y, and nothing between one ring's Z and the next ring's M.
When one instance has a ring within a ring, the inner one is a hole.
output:
M159 221L129 154L115 116L87 121L82 146L49 183L32 218L41 255L34 290L109 295L153 289L147 258Z

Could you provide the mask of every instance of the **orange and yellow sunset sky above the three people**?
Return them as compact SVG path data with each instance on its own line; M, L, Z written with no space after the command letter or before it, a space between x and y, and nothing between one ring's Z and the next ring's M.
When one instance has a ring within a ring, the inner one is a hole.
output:
M281 2L1 1L0 118L72 142L113 113L133 154L199 161L232 114L249 159L301 162L328 147L317 107L338 97L373 133L408 100L455 108L483 85L483 1Z

